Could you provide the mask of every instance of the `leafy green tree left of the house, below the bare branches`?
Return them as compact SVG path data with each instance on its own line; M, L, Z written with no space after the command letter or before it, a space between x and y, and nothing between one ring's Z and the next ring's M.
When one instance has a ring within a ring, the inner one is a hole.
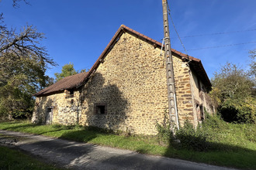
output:
M14 53L0 57L0 114L29 117L33 111L33 93L47 86L40 61L33 56L19 58ZM5 55L3 54L3 55Z

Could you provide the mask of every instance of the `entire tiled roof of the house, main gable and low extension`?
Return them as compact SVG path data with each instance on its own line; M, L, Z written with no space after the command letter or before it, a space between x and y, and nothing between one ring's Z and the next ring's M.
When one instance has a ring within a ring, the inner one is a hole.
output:
M106 46L106 48L103 50L102 54L96 60L96 62L92 66L91 70L88 71L88 73L78 73L78 74L75 74L74 76L67 76L64 79L57 81L57 83L54 83L50 87L47 87L47 88L41 90L40 92L35 93L34 95L35 96L43 96L43 95L47 95L50 93L56 93L56 92L59 92L59 91L65 90L65 89L68 90L68 89L72 89L72 88L81 87L81 85L85 84L87 82L87 80L89 79L90 75L98 68L101 61L107 56L109 51L112 49L112 46L115 45L115 43L119 40L119 37L122 36L122 34L124 32L128 32L128 33L132 34L133 36L137 36L137 38L142 39L142 40L152 44L153 46L161 49L161 46L162 46L161 42L157 42L156 40L151 39L148 36L144 36L140 32L130 29L127 26L121 25L119 27L119 29L116 31L116 34L110 40L108 46ZM189 65L192 66L192 69L195 70L197 75L199 75L200 80L202 80L202 82L204 82L206 84L208 89L210 89L212 87L212 84L209 81L209 77L207 76L206 70L203 68L200 59L197 59L192 56L188 56L184 53L178 52L175 49L171 49L171 52L180 57L183 57L184 59L188 59L189 61L191 61L191 62L189 62Z

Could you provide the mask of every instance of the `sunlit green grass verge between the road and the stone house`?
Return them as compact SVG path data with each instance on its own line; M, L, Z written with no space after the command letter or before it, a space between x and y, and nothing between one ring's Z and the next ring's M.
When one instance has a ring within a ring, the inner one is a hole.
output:
M126 136L107 133L95 128L78 126L36 125L28 122L3 122L0 129L42 134L54 138L83 141L96 145L124 148L149 155L182 158L211 165L256 169L256 125L227 124L220 120L206 121L204 131L212 146L207 151L194 151L169 145L160 145L155 136Z

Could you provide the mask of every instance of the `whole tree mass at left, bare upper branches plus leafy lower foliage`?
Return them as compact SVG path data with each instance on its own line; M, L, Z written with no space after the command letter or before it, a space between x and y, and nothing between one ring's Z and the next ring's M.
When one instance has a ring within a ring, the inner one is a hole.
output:
M20 1L13 0L13 6L17 7ZM50 77L45 71L57 63L40 46L44 36L35 27L25 26L19 32L9 29L1 14L0 30L0 115L29 117L33 93L47 86Z

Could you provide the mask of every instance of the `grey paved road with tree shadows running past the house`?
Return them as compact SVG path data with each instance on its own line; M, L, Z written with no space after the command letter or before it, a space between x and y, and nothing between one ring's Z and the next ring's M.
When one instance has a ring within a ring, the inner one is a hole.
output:
M142 155L135 151L90 145L63 139L47 138L0 130L0 143L15 145L47 162L73 169L196 169L230 170L219 166L199 164L174 158Z

